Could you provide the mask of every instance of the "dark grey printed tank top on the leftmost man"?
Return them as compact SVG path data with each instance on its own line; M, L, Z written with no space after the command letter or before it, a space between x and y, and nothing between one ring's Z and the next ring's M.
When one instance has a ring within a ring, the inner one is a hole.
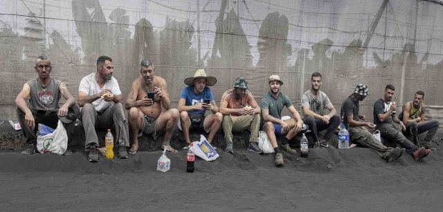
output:
M62 81L51 78L47 86L39 84L39 78L26 82L30 87L29 105L35 110L57 109L60 100L60 84Z

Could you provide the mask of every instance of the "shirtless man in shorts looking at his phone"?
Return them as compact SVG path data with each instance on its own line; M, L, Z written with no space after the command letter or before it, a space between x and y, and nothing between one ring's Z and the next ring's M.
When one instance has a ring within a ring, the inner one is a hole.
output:
M126 109L129 110L129 127L132 134L132 146L129 154L138 151L138 137L152 134L165 129L162 148L177 153L170 146L170 139L177 127L179 110L170 108L170 99L166 88L166 81L155 76L152 61L141 61L141 76L132 82L132 88L126 99ZM162 111L162 108L165 109Z

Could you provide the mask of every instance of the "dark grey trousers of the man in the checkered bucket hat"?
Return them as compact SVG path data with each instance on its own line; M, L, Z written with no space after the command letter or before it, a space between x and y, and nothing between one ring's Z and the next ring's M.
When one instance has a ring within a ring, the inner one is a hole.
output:
M363 147L373 148L383 159L386 159L386 157L394 150L392 147L387 147L381 144L381 142L375 139L364 126L350 126L349 135L352 143L359 144Z

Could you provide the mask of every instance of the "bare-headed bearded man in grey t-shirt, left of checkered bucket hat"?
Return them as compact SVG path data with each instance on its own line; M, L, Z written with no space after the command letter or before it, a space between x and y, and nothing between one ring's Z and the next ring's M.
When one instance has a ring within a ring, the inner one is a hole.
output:
M329 97L323 91L320 91L320 86L321 74L318 72L312 73L311 89L302 95L302 115L306 125L309 126L309 130L312 131L311 135L315 141L314 148L328 148L329 144L326 139L331 139L334 135L334 131L340 125L340 117L336 115L336 109ZM325 109L329 110L329 113L325 114ZM323 130L326 130L325 139L320 140L318 132Z

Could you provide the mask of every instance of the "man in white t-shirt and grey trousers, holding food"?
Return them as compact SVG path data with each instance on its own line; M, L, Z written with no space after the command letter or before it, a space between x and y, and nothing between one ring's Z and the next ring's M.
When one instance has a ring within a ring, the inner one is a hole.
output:
M118 144L118 158L127 158L129 146L128 125L122 106L122 92L117 79L112 77L114 65L112 59L100 56L97 59L97 72L83 77L78 88L78 106L82 107L82 123L86 141L84 147L89 150L88 160L98 161L98 138L96 127L110 128L114 123Z

